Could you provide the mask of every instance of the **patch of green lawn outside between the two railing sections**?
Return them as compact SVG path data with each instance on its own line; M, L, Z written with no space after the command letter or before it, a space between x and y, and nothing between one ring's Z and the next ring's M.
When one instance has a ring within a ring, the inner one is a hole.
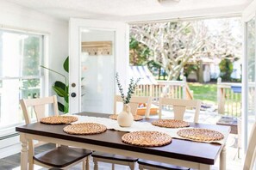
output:
M217 103L217 85L189 82L190 90L193 91L194 99L203 100L204 103Z

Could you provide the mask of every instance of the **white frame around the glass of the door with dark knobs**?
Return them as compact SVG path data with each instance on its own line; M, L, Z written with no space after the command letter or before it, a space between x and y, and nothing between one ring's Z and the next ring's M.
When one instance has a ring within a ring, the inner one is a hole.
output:
M78 68L80 68L81 64L80 31L82 28L115 31L115 70L123 77L123 84L126 84L128 81L128 24L123 21L100 21L71 18L69 21L69 91L70 94L77 94L76 97L71 96L69 99L69 112L71 113L81 112L81 96L79 95L81 94L81 70ZM76 86L72 87L72 83L75 83ZM124 86L124 88L126 88L126 86ZM113 97L115 94L113 94Z

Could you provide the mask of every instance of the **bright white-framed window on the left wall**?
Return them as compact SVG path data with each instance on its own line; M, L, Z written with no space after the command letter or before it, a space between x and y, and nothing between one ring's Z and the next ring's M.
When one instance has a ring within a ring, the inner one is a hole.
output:
M19 100L43 93L43 35L0 29L0 128L23 122Z

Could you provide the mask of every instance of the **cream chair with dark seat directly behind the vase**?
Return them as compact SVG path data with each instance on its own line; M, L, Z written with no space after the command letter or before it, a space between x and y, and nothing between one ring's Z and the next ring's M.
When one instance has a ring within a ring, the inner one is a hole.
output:
M120 95L115 96L114 114L116 114L117 102L122 102L122 97ZM141 103L147 104L147 109L145 113L145 117L147 118L149 116L150 107L152 103L151 97L132 97L128 105L130 106L131 112L135 115L137 112L137 108ZM122 155L106 154L102 152L94 152L92 153L91 156L93 157L95 170L98 169L98 165L97 165L98 161L112 163L112 169L115 169L115 164L118 164L118 165L129 166L131 170L135 169L135 163L136 161L138 161L138 158L127 157Z

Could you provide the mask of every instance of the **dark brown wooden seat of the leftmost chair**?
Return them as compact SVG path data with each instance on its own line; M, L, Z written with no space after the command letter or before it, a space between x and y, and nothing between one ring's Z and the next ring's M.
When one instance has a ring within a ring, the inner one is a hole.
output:
M60 146L34 155L34 160L51 167L66 167L91 153L91 150Z

